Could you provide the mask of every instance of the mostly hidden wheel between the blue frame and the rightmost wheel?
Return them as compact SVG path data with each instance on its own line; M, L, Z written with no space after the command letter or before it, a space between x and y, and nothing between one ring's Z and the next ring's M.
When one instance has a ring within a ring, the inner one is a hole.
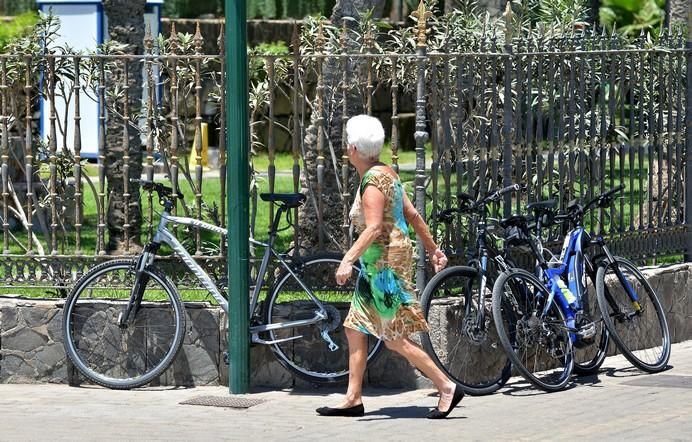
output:
M603 365L608 354L610 336L596 299L596 269L585 255L582 256L584 258L585 287L584 293L581 294L581 299L584 313L594 323L596 334L591 344L584 346L575 345L574 374L590 376L598 373L601 365Z

